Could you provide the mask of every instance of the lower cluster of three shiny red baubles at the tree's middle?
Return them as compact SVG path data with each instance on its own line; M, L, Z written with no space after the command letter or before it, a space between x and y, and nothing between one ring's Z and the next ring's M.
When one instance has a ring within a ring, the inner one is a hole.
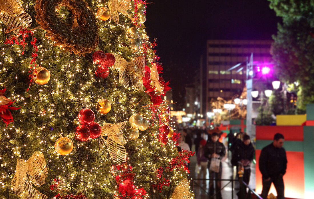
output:
M89 138L97 138L101 133L101 127L94 122L95 114L90 109L82 109L78 113L78 121L82 124L75 128L75 139L87 141Z

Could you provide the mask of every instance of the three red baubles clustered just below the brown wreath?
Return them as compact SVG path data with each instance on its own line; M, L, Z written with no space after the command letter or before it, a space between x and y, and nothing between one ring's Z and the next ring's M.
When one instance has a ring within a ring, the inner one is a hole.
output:
M115 64L116 58L111 53L104 53L101 50L97 50L92 55L93 63L98 65L95 70L96 77L106 78L109 75L108 67Z

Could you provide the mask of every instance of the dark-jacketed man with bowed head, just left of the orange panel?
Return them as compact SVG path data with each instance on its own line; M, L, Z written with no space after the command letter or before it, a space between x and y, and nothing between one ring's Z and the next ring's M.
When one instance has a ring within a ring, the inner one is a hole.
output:
M236 146L234 150L234 156L236 162L241 163L244 168L243 181L248 185L251 176L251 163L254 158L255 149L251 143L250 136L244 135L243 142ZM238 167L237 167L238 171Z

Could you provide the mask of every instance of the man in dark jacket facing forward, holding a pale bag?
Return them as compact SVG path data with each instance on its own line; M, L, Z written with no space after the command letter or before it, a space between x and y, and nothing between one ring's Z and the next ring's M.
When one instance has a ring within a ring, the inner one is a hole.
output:
M205 157L208 158L208 170L210 168L211 160L212 158L218 158L220 160L220 165L219 165L219 172L214 172L209 170L209 179L214 179L216 182L216 199L221 199L221 173L222 173L222 164L221 164L221 159L225 157L226 154L226 148L225 145L223 145L221 142L218 141L219 136L218 133L213 133L211 135L211 139L209 142L206 144L206 149L205 149ZM213 198L214 196L214 181L210 180L209 181L209 194L210 197Z

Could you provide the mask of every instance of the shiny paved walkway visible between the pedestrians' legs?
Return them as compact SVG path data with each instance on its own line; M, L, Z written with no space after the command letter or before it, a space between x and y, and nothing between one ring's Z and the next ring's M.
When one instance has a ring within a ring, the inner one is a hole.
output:
M194 145L192 146L192 151L195 151ZM191 157L190 161L191 161L190 178L197 179L197 175L195 175L195 166L197 165L196 154L195 154L195 156ZM233 171L233 168L230 164L230 160L228 158L222 162L222 167L223 167L222 168L222 179L235 179L236 169L234 168L234 171ZM208 170L207 170L206 179L209 179ZM209 198L209 196L207 195L207 193L209 192L209 181L206 181L206 184L204 184L204 185L202 185L203 184L202 181L201 182L196 181L196 183L201 184L201 187L194 183L193 191L195 193L195 199ZM230 181L222 181L221 182L221 187L225 186L225 188L221 192L222 199L238 199L238 197L236 196L236 192L238 191L237 188L239 187L238 182L234 182L233 185L234 185L233 186L234 191L233 191L233 198L232 198L231 182ZM253 165L253 164L251 166L251 177L250 177L249 186L253 190L255 189L255 165ZM205 192L205 190L207 193Z

